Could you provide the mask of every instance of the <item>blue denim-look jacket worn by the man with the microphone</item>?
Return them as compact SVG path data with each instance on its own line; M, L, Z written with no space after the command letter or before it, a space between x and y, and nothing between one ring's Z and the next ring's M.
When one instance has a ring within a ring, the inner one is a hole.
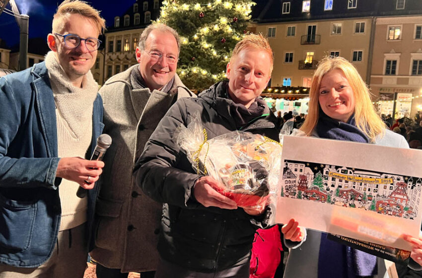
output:
M102 119L98 95L91 153ZM1 77L0 263L33 268L50 258L61 217L57 156L55 102L45 63ZM88 234L97 192L97 187L89 191Z

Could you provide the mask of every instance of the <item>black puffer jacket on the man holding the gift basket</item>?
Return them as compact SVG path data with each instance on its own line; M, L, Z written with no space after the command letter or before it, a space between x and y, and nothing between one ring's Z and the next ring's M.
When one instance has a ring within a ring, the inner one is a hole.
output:
M198 98L179 99L167 112L145 145L135 167L136 182L143 192L164 203L160 256L169 262L197 270L212 272L247 262L256 229L269 225L270 209L258 217L243 209L205 208L192 196L192 188L200 177L195 174L186 155L173 140L175 129L191 122L199 111L208 139L235 131L226 98L227 82L219 82ZM242 131L261 134L278 140L276 117L268 111L250 122Z

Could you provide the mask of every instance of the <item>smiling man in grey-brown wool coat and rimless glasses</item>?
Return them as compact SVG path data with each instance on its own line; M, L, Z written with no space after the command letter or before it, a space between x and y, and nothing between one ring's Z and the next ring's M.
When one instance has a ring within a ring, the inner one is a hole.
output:
M148 278L156 270L162 205L141 192L132 171L168 108L181 97L195 96L176 74L179 52L174 29L149 25L136 49L139 65L114 75L99 91L104 133L113 144L104 157L90 253L98 262L98 278L127 278L129 272Z

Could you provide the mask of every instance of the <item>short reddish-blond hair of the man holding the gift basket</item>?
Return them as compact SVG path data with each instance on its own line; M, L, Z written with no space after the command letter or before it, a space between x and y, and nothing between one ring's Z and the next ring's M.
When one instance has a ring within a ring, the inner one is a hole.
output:
M247 34L234 47L233 52L231 54L231 58L230 58L230 64L232 64L233 62L233 57L237 56L239 52L245 48L255 48L258 50L263 50L268 53L268 55L270 56L270 75L271 75L271 73L273 72L273 64L274 64L273 56L274 55L273 55L273 50L271 49L270 43L268 42L268 39L265 38L261 33Z

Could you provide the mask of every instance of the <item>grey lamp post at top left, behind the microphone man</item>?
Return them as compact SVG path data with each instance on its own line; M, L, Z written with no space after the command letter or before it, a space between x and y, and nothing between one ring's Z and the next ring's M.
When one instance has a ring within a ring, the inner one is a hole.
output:
M4 0L0 0L4 1ZM19 36L19 67L18 70L26 69L26 61L28 56L28 33L29 33L29 15L20 14L14 0L9 1L17 25L19 25L20 36Z

